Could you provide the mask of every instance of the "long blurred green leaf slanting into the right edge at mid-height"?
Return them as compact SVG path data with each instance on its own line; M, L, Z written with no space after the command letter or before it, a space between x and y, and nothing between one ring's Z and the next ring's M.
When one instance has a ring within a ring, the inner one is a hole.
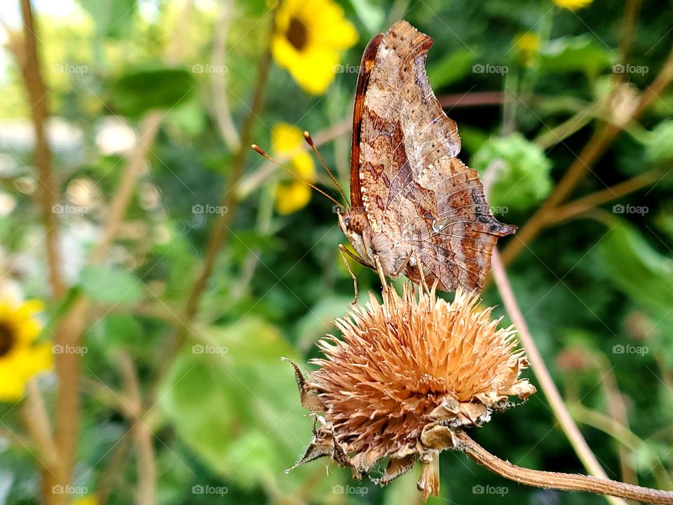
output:
M673 260L653 250L632 225L617 222L600 251L610 280L634 302L658 314L673 307Z

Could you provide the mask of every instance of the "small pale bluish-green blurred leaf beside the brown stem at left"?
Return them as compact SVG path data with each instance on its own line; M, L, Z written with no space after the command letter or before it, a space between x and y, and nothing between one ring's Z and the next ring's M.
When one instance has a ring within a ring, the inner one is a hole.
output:
M85 267L79 283L82 290L98 302L134 304L142 299L142 283L123 267Z

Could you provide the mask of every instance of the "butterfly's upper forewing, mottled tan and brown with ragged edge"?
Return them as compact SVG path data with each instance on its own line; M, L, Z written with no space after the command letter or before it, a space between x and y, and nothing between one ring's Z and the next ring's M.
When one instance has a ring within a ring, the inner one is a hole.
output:
M423 168L461 149L456 123L444 114L426 75L432 44L406 21L395 23L376 42L360 114L356 96L355 116L361 116L358 189L376 232L390 203Z

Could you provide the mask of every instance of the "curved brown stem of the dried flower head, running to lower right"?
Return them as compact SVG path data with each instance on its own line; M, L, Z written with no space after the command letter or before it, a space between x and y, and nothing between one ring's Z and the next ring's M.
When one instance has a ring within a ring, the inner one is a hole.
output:
M491 454L484 447L477 444L464 431L456 431L454 433L454 442L457 443L458 450L465 452L475 462L519 484L543 487L544 489L606 494L612 497L633 499L654 504L673 504L673 492L671 491L654 490L649 487L625 484L607 478L583 476L576 473L531 470L517 466L494 456L494 454Z

